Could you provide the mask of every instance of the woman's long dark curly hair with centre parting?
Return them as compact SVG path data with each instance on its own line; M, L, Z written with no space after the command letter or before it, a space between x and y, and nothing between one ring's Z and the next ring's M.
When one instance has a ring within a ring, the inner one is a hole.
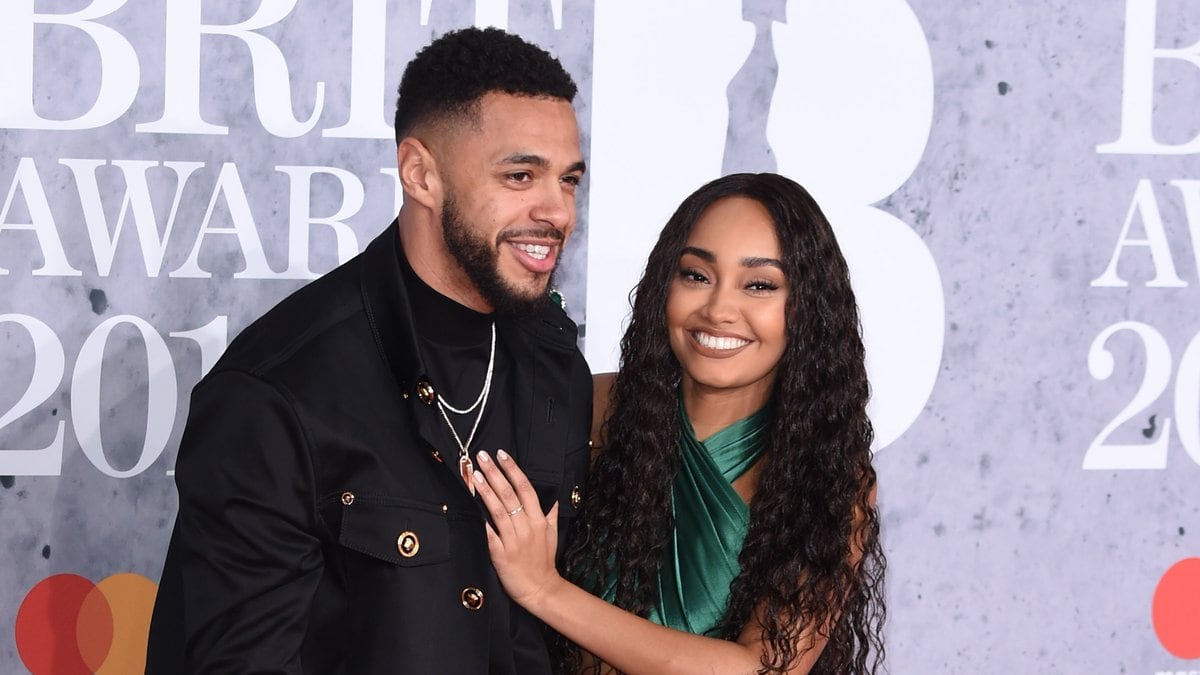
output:
M874 673L883 659L886 561L858 306L829 222L800 185L776 174L704 185L650 252L620 342L605 449L566 551L568 575L593 590L616 579L616 604L641 616L656 602L679 465L680 366L667 339L667 294L692 226L727 197L755 199L770 214L788 293L772 434L722 635L736 639L760 621L767 647L760 673L784 673L811 647L812 632L809 640L802 632L815 627L828 644L812 673ZM571 653L563 650L566 668L577 665Z

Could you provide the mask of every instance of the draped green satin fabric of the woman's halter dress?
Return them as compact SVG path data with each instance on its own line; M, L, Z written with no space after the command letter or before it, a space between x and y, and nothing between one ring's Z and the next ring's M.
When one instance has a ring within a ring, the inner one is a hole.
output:
M676 528L659 571L659 604L649 619L716 635L750 526L750 509L731 483L762 454L768 414L764 407L703 443L696 440L682 401L679 417L679 473L671 495Z

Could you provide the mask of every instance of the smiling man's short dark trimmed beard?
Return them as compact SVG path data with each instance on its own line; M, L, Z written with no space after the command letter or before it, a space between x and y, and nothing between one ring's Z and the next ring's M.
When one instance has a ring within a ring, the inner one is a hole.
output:
M533 291L517 288L500 276L500 243L506 237L524 233L528 232L500 232L496 241L488 241L478 235L475 228L463 220L452 198L442 202L442 235L445 239L446 250L467 273L467 277L475 285L487 304L492 305L492 310L497 315L533 316L548 301L546 288L558 271L562 256L556 258L554 269L551 270L547 282L540 288ZM563 233L553 228L538 231L538 233L540 235L550 234L558 238L559 241L563 239Z

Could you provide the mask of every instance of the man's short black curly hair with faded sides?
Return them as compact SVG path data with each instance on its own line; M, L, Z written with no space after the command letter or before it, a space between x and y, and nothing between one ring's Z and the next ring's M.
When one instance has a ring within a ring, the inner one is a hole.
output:
M578 88L558 59L496 28L450 31L416 53L396 97L396 143L430 121L474 117L485 94L562 98Z

